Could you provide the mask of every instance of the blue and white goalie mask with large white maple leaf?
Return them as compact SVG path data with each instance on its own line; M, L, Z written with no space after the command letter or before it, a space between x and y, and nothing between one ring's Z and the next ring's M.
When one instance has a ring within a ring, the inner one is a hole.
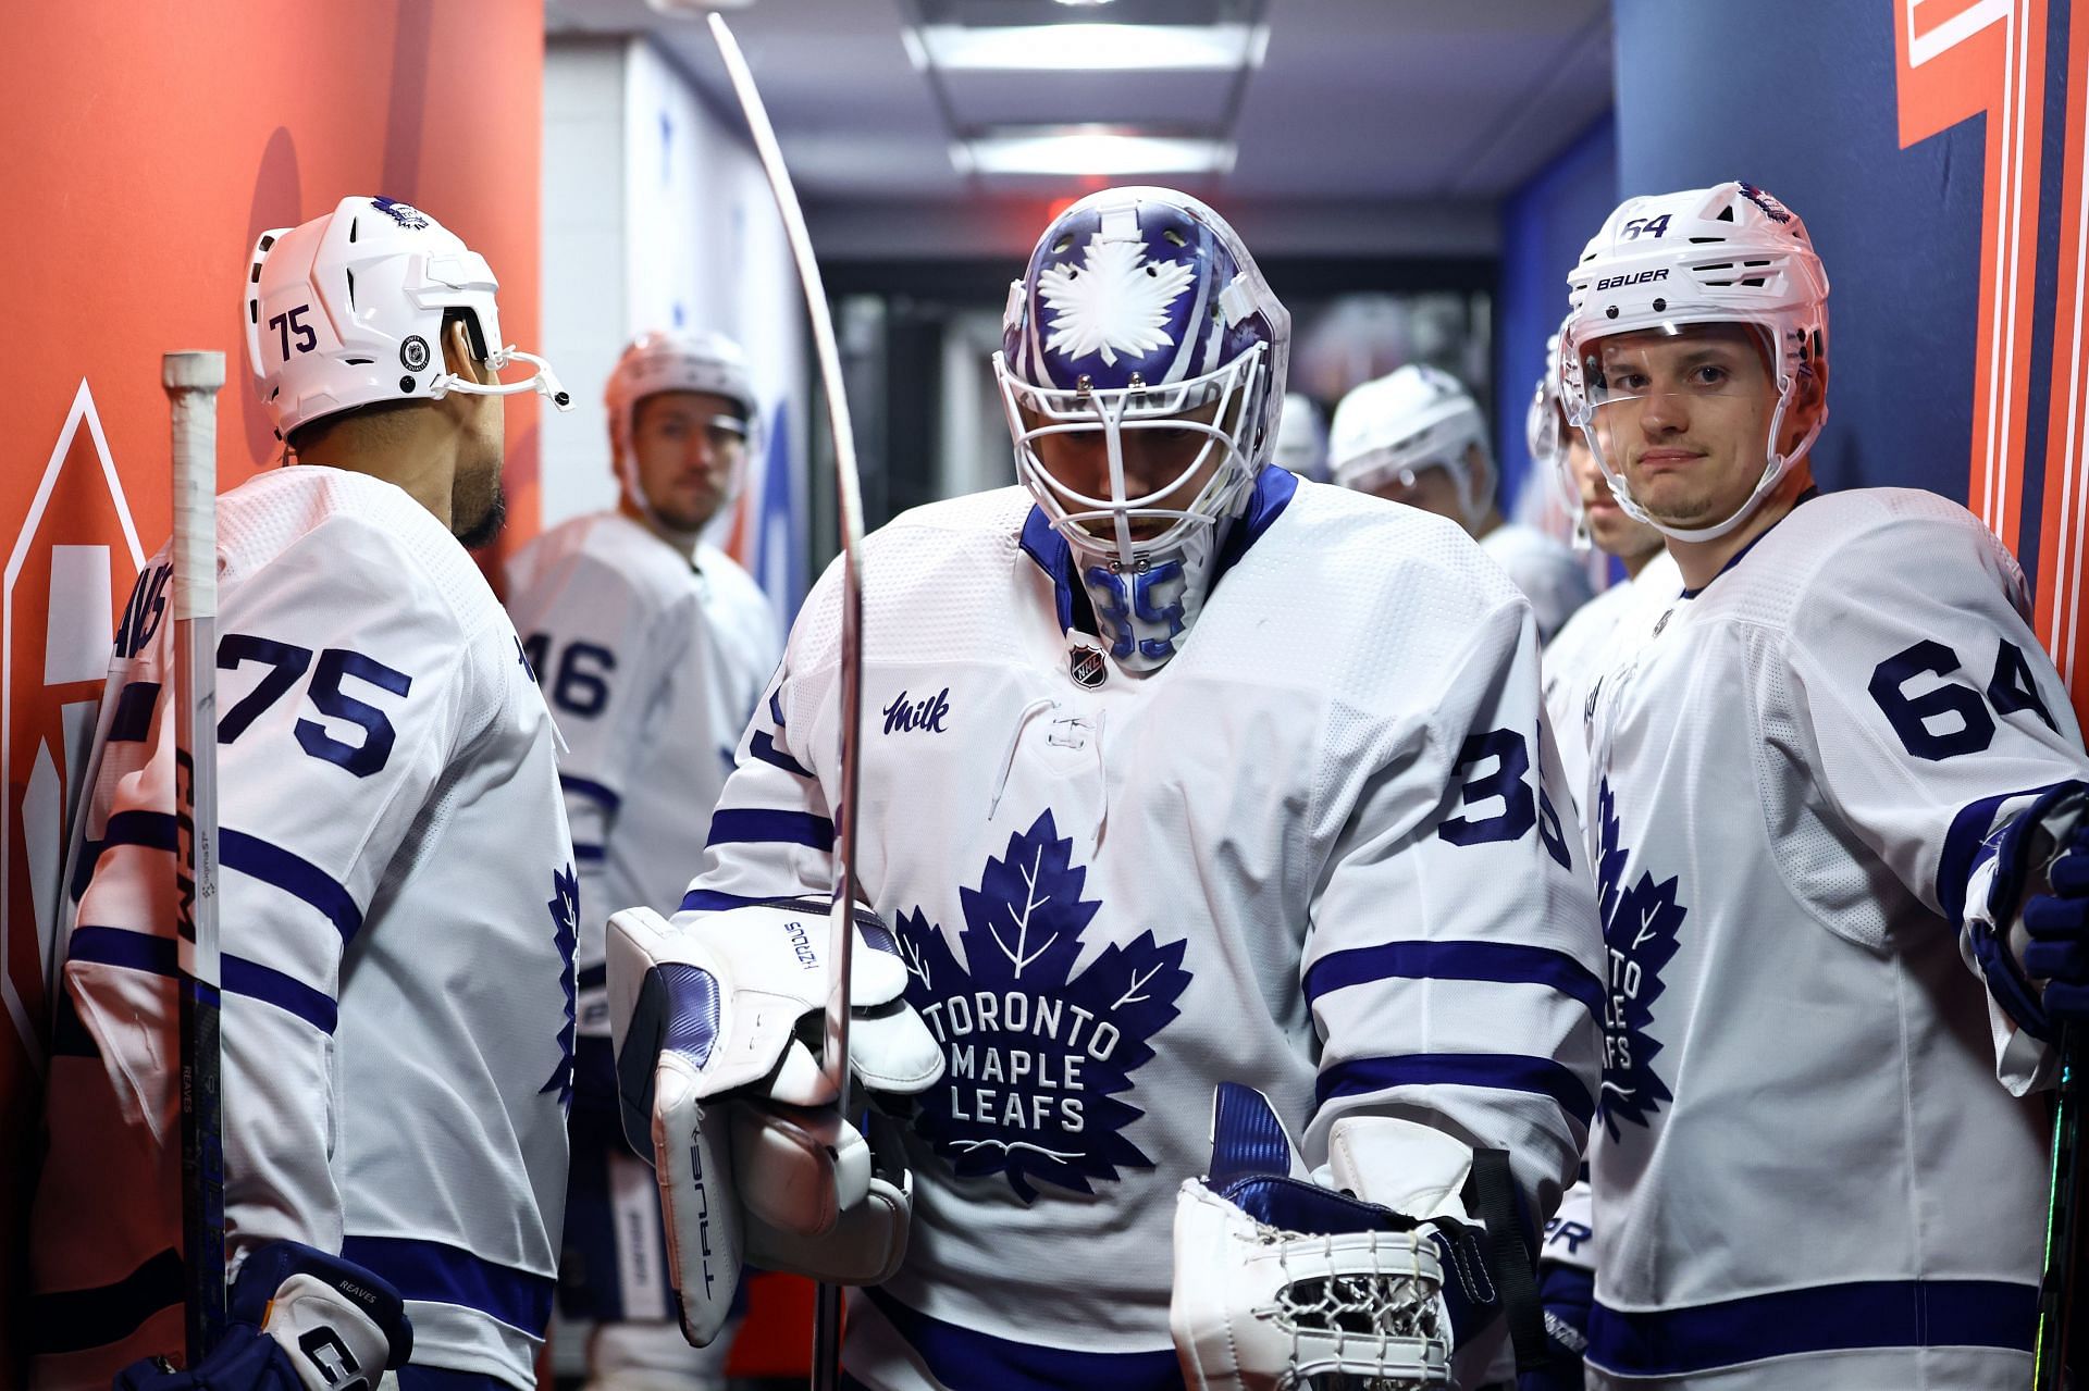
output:
M1015 472L1111 656L1174 656L1268 462L1291 315L1226 221L1168 188L1059 213L1009 286L994 376Z

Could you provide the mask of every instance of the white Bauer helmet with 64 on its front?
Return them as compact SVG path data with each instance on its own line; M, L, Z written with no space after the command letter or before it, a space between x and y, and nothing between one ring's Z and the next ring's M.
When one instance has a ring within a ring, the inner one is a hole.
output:
M1822 405L1788 453L1778 430L1799 378L1828 357L1828 272L1799 213L1753 184L1690 188L1625 198L1581 251L1567 276L1573 313L1560 328L1563 393L1569 422L1588 434L1627 516L1677 541L1713 541L1734 531L1792 470L1828 420ZM1596 432L1596 411L1627 399L1602 378L1602 338L1627 332L1682 332L1692 324L1746 324L1763 336L1778 384L1763 476L1734 516L1713 526L1665 526L1640 508Z

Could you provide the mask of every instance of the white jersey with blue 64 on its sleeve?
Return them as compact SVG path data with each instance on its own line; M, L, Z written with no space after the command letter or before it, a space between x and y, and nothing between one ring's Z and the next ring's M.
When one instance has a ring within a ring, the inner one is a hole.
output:
M1955 503L1832 493L1600 677L1592 1385L2026 1385L2045 1107L1955 942L2089 773L2024 612Z

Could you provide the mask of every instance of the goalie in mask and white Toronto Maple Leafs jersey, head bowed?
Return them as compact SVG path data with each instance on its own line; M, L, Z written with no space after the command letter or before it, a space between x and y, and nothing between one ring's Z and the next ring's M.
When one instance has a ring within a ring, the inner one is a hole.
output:
M773 1105L821 1099L788 1030L817 1028L827 969L836 570L681 913L610 923L625 1126L656 1153L691 1337L744 1243L871 1284L848 1385L1268 1387L1343 1335L1276 1314L1299 1291L1264 1257L1339 1247L1383 1320L1347 1330L1349 1366L1443 1385L1456 1343L1473 1387L1494 1362L1462 1222L1492 1211L1527 1280L1519 1243L1575 1172L1588 877L1529 604L1441 518L1266 466L1287 349L1216 213L1090 194L1009 292L1024 487L867 543L854 844L882 921L850 1048L873 1094L911 1094L886 1168ZM1214 1159L1220 1084L1253 1090L1226 1092ZM1276 1218L1247 1188L1320 1203L1291 1230L1356 1230L1241 1241Z

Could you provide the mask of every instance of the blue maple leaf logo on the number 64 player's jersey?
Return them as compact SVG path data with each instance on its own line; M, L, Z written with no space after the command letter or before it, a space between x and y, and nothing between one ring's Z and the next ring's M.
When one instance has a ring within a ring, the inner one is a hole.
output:
M1609 961L1602 992L1602 1097L1596 1115L1617 1140L1621 1119L1650 1126L1661 1103L1673 1101L1654 1071L1661 1044L1648 1038L1646 1028L1654 1021L1654 1000L1665 990L1661 967L1675 954L1675 929L1684 925L1686 913L1675 902L1675 879L1654 883L1642 871L1638 883L1623 881L1625 848L1619 844L1611 779L1602 779L1596 792L1596 815L1602 827L1596 909L1602 915Z

